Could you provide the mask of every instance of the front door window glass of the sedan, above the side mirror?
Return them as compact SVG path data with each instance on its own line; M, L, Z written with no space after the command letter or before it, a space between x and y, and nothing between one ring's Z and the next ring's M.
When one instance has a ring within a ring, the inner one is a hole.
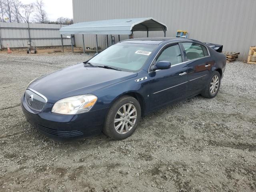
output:
M169 61L171 65L182 62L180 47L178 44L167 47L157 58L158 61Z

